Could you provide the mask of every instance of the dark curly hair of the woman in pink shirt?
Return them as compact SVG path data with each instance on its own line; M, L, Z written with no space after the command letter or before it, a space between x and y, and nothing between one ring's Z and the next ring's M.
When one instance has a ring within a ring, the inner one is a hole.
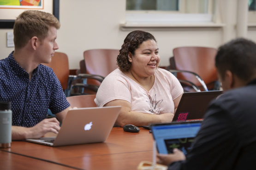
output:
M119 55L117 56L117 64L122 72L127 72L131 68L131 62L129 62L128 58L129 52L134 55L139 45L147 40L155 40L155 37L148 32L140 30L132 31L126 36L124 44L122 45L121 50L119 50Z

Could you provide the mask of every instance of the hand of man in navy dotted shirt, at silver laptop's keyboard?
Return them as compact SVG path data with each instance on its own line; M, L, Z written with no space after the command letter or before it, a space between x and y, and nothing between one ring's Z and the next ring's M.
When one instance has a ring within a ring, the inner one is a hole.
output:
M44 119L37 125L28 128L26 138L40 138L48 132L58 134L60 122L56 118Z

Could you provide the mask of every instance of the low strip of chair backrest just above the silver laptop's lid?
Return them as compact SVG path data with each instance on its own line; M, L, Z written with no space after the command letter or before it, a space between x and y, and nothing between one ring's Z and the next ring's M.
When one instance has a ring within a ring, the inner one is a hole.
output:
M70 103L72 108L89 108L96 107L94 102L95 97L96 95L69 96L67 97L67 101Z

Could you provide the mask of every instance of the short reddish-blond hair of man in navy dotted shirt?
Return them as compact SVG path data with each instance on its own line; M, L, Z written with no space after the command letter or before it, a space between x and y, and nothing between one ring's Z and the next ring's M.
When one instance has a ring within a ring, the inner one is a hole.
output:
M13 27L15 48L24 47L34 36L44 40L51 26L60 28L60 22L54 15L43 11L24 11L17 17Z

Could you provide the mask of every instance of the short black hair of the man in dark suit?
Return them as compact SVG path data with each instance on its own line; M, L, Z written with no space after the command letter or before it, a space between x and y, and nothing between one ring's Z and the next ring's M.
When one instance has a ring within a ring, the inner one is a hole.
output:
M250 81L256 74L256 44L238 38L221 45L215 57L215 66L221 78L224 78L226 70L230 70L238 78Z

